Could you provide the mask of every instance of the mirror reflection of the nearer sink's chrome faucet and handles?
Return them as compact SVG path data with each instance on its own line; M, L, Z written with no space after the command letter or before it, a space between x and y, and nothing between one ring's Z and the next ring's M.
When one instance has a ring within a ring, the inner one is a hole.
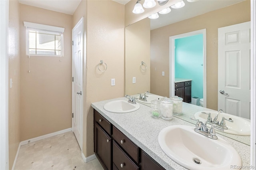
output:
M211 113L206 113L206 112L202 112L208 115L207 121L206 123L210 124L210 125L214 125L216 127L222 128L222 129L228 129L228 127L226 126L226 121L229 122L234 122L232 119L226 119L225 117L222 117L221 121L218 121L218 117L220 116L220 113L223 113L223 111L220 109L218 110L218 113L216 114L216 116L214 117L213 121L212 121L212 117L211 117Z

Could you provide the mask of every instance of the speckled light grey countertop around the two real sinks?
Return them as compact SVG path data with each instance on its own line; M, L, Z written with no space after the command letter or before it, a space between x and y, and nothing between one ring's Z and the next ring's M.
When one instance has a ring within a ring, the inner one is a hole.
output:
M109 101L120 99L127 100L125 97L110 99L92 103L92 107L165 169L186 169L174 162L162 151L158 144L158 133L163 128L170 125L187 125L193 127L195 125L187 121L183 121L177 117L173 117L173 119L170 121L166 121L161 118L154 119L151 117L150 107L142 104L140 104L140 109L131 113L111 113L103 109L104 104L108 103ZM198 107L191 107L190 104L183 105L183 116L188 115L187 112L196 113L197 111L193 110L195 108L198 109ZM207 110L206 108L202 109ZM246 166L250 166L250 146L221 134L218 134L217 136L226 140L237 150L242 159L242 164L245 167L244 169L247 169Z

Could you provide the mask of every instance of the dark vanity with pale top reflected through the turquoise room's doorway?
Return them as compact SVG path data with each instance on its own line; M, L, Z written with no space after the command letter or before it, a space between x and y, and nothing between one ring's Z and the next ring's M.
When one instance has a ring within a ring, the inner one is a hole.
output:
M181 97L184 102L191 102L191 79L175 78L175 95Z

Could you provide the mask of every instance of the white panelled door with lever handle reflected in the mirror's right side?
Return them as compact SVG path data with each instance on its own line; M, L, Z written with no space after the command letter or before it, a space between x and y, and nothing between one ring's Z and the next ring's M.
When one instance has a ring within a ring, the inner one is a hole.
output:
M250 22L218 29L218 109L250 119Z

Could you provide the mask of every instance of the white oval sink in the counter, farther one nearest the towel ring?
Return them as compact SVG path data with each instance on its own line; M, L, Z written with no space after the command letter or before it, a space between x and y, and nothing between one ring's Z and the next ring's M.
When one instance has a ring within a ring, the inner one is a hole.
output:
M113 113L128 113L140 109L140 105L128 103L128 100L116 100L106 103L103 108Z

